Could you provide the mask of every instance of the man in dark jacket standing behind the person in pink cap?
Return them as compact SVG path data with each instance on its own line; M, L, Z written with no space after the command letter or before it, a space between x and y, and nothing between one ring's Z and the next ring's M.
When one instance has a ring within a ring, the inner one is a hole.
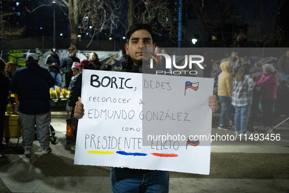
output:
M79 58L76 57L77 48L76 47L70 47L68 48L69 56L63 58L60 62L60 70L65 73L65 87L69 86L71 77L73 76L71 66L73 62L80 63Z

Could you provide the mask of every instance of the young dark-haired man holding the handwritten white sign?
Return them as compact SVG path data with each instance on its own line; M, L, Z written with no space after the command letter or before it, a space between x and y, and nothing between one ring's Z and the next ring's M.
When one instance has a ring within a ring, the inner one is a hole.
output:
M128 72L142 72L143 48L156 48L152 39L153 30L149 24L133 24L126 32L126 54L133 61ZM84 97L84 96L83 96ZM209 108L213 113L218 109L216 96L209 97ZM84 115L84 105L81 98L76 102L74 116L76 119ZM194 144L195 141L192 141ZM124 151L123 151L124 152ZM149 169L111 169L111 188L113 193L139 192L169 192L169 172Z

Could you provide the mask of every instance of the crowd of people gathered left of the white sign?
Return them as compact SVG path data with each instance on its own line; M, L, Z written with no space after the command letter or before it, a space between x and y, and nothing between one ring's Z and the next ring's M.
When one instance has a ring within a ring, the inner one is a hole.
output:
M35 53L26 55L26 65L17 69L13 62L5 63L0 59L0 150L7 148L3 144L4 119L6 106L11 100L11 94L16 96L19 109L19 124L22 129L22 145L24 154L31 153L31 147L37 139L42 147L42 154L51 151L49 147L49 124L51 122L50 95L49 89L56 84L62 87L62 75L65 74L65 85L63 88L70 90L68 105L73 114L77 98L81 96L82 71L90 70L111 70L99 62L96 53L90 54L89 60L80 60L76 57L76 47L68 48L69 55L61 61L55 48L51 48L51 54L46 58L45 66L40 67L38 56ZM10 93L10 97L9 97ZM15 98L15 97L13 97ZM75 121L77 121L75 119Z

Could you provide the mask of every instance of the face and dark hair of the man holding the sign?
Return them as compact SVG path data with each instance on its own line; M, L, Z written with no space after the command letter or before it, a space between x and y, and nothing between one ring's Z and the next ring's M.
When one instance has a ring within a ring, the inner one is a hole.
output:
M151 34L145 29L133 32L129 44L125 45L126 54L130 55L134 65L141 65L143 58L144 60L150 59L146 53L142 52L142 48L156 48Z

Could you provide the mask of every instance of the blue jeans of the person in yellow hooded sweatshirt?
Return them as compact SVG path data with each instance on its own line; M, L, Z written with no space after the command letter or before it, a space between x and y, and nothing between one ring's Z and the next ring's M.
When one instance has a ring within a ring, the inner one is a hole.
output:
M220 127L227 128L227 121L229 121L228 112L231 108L232 99L229 96L219 96L221 102L221 117L220 117Z

